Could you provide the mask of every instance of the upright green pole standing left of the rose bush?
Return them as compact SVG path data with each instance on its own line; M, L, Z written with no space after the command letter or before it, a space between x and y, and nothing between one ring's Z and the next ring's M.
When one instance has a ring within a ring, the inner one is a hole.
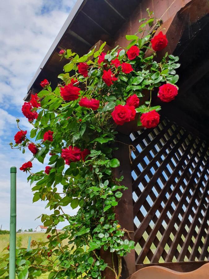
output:
M16 167L10 168L11 194L10 194L10 242L9 242L9 279L15 279L15 253L16 253Z

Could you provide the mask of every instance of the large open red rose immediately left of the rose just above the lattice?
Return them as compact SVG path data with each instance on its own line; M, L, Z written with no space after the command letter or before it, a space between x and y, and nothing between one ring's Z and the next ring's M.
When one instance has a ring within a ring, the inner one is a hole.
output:
M113 120L117 125L123 125L125 122L133 120L133 109L134 107L129 107L127 105L118 105L115 107L114 111L111 113ZM136 112L135 112L136 114ZM135 117L135 116L134 116Z

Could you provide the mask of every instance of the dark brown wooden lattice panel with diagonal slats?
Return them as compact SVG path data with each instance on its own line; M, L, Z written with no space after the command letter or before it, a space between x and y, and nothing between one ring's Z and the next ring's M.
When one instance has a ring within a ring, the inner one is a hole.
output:
M167 119L130 138L136 263L207 260L207 144Z

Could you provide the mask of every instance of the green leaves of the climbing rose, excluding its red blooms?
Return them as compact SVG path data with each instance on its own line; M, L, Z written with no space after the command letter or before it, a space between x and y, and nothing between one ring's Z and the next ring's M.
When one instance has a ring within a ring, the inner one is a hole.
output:
M142 33L140 38L137 34L126 36L131 41L127 48L132 45L141 48L136 59L129 61L125 50L120 49L117 53L118 47L105 55L107 64L110 65L118 54L121 63L131 64L131 73L120 72L118 80L108 87L102 80L103 64L98 64L98 56L105 44L98 51L94 48L82 57L67 50L63 57L69 62L64 66L65 73L59 75L59 87L53 91L50 86L46 86L38 93L41 108L38 108L39 116L30 133L31 138L36 141L38 152L31 161L37 159L40 163L47 163L51 169L49 174L44 170L37 173L29 171L28 181L33 184L33 202L47 201L46 207L52 212L50 215L39 216L44 226L48 227L46 233L51 235L49 240L32 241L31 250L20 249L19 237L16 250L18 278L37 278L50 272L51 279L101 279L101 272L107 267L107 263L101 259L100 249L115 253L119 265L122 257L134 249L134 241L124 239L124 234L128 236L127 231L120 227L114 213L114 207L118 205L126 187L123 185L123 177L112 175L112 168L119 167L120 162L114 158L116 132L111 112L116 105L124 105L128 96L133 93L139 98L143 97L144 91L148 91L150 100L140 105L136 111L159 111L160 106L151 106L152 93L163 82L176 83L178 76L175 69L179 67L176 63L178 57L173 55L168 55L166 59L166 54L159 63L153 60L154 55L144 58L153 35L143 37L145 28L153 28L154 24L159 24L155 23L152 12L148 10L148 14L148 19L142 20L139 27L139 33ZM82 62L86 62L89 67L87 77L78 73L77 65ZM71 71L74 75L70 77ZM116 68L113 71L113 74L118 73ZM82 88L81 96L100 101L97 110L81 107L78 100L63 100L59 88L70 84L72 78L76 78L77 83L81 84L76 85ZM138 125L141 125L140 120ZM43 141L43 135L49 130L54 133L53 141ZM29 141L26 137L19 148L25 148ZM61 154L62 149L69 146L81 150L87 148L90 154L85 160L71 160L67 163ZM48 153L51 153L51 157L46 162ZM78 210L76 215L65 213L65 208L69 206ZM68 225L62 232L58 232L56 228L63 221L67 221ZM67 244L64 242L66 240ZM3 260L7 266L0 270L2 275L8 269L8 256ZM120 278L120 268L118 273L116 269L114 272L115 277Z

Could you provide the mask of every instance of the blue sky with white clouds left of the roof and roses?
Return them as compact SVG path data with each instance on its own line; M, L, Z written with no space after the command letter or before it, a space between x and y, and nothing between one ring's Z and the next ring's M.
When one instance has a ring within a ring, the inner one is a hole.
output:
M22 154L8 145L14 141L16 117L21 128L31 125L21 112L27 86L56 38L76 0L8 0L2 1L0 18L0 226L9 229L10 167L17 172L17 229L35 228L41 224L35 218L44 209L44 202L32 203L33 194L27 175L19 170L31 158L30 151ZM33 161L34 162L34 161ZM34 170L43 169L39 162ZM72 214L71 208L65 210ZM63 223L63 226L65 224ZM62 227L62 226L61 226Z

